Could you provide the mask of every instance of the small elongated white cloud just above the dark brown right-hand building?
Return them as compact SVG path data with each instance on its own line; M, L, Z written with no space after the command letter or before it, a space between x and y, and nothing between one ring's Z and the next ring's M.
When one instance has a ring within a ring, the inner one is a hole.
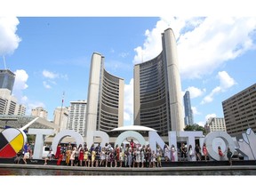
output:
M217 78L220 80L220 85L216 86L212 92L204 97L204 100L202 100L201 104L212 102L213 97L220 93L220 92L226 92L228 88L232 87L236 84L236 81L228 75L226 71L220 71L218 73Z

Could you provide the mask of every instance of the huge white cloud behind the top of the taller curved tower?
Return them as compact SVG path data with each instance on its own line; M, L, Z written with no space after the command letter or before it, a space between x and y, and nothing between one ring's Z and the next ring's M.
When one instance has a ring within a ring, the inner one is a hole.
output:
M254 49L256 18L162 18L146 30L143 47L134 49L134 63L151 60L162 51L161 33L172 28L177 39L181 78L212 74L227 60Z

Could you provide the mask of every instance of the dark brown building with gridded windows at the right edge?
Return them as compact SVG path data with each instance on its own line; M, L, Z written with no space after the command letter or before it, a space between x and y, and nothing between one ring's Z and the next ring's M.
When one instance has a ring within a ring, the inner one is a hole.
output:
M256 132L256 84L222 101L227 132L241 137L248 128Z

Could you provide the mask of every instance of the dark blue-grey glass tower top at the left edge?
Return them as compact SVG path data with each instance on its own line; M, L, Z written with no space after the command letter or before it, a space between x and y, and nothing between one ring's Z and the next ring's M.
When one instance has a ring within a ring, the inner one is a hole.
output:
M9 69L0 69L0 89L8 89L11 91L15 81L15 74Z

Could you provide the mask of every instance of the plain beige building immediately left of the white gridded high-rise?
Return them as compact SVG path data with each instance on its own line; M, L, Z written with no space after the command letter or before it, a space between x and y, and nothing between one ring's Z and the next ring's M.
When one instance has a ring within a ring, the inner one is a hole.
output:
M53 123L59 125L59 132L68 129L68 108L58 107L53 112Z

